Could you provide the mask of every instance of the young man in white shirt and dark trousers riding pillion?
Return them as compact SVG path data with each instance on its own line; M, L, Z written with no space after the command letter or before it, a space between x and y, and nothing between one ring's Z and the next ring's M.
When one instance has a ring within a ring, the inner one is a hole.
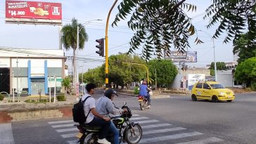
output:
M94 94L94 89L96 88L95 84L87 84L86 89L87 89L87 94L84 94L82 96L82 100L87 98L88 96L91 96ZM91 111L89 111L91 110ZM88 115L87 121L85 124L88 126L101 126L102 129L100 133L98 134L98 143L103 143L103 144L111 144L108 140L105 139L105 136L107 136L108 130L110 128L110 117L105 117L102 114L98 114L96 112L96 107L95 107L95 99L94 98L87 98L87 100L84 102L84 114Z

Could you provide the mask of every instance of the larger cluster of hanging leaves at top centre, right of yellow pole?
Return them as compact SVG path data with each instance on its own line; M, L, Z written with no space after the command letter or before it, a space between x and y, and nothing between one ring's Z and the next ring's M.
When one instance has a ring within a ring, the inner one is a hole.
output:
M186 0L123 0L117 6L119 13L112 26L117 26L121 19L132 15L128 27L134 31L134 36L129 43L129 53L142 46L143 58L146 60L155 54L161 58L162 51L169 53L168 50L172 47L185 51L185 48L190 47L188 38L196 32L185 11L196 11L196 6L184 1ZM196 38L197 44L201 42Z

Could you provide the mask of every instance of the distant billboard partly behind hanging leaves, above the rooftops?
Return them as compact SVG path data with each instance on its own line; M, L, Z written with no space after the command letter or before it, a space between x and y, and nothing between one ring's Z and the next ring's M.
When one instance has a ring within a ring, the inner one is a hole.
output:
M174 63L186 62L196 63L197 62L197 51L168 51L165 52L165 58L171 59Z

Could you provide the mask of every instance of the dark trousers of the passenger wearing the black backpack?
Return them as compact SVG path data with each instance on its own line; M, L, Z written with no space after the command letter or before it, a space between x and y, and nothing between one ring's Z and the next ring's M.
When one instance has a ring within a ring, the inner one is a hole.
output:
M105 121L104 119L100 119L98 117L94 117L91 122L89 122L87 125L88 126L100 126L102 127L100 133L98 134L98 139L103 139L105 136L107 136L107 133L110 128L110 121Z

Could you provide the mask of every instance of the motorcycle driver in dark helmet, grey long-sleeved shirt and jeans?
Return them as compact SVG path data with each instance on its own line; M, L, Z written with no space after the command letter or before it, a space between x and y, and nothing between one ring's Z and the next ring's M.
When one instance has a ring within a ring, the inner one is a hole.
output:
M113 103L114 96L118 95L113 89L108 89L107 91L105 91L103 93L103 96L96 100L96 111L99 114L103 114L104 116L108 117L109 114L122 114L123 112L126 112L126 109L122 110L115 107ZM115 124L113 124L113 122L111 122L109 130L111 133L113 133L113 143L118 144L119 132L117 131L117 128L115 127Z

